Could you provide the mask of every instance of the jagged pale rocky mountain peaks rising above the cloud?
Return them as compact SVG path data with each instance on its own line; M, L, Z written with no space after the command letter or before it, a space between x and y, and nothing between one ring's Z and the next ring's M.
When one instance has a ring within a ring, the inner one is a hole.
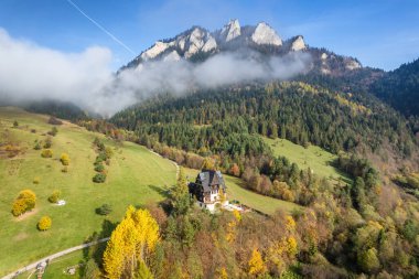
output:
M223 29L213 32L201 26L192 26L172 39L158 41L122 69L137 68L142 63L152 61L203 62L218 53L234 52L262 56L307 53L307 56L313 58L313 71L326 75L342 75L363 67L355 58L307 45L302 35L282 41L280 35L266 22L240 26L238 20L230 20Z

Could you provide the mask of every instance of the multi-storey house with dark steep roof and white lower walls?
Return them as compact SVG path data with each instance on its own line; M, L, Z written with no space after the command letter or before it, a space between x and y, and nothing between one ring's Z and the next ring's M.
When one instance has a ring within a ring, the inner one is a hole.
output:
M228 203L226 190L223 174L219 171L202 170L195 182L189 183L191 197L196 198L201 207L210 211L214 211L216 204Z

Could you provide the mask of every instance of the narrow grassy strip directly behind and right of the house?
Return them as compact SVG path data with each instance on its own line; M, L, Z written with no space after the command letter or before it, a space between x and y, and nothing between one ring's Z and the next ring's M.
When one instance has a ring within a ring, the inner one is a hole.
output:
M189 180L194 181L198 171L185 169ZM223 174L227 185L228 200L237 200L240 203L260 211L266 214L272 214L277 210L291 213L293 210L301 208L298 204L281 201L270 196L260 195L245 189L244 182L240 179Z

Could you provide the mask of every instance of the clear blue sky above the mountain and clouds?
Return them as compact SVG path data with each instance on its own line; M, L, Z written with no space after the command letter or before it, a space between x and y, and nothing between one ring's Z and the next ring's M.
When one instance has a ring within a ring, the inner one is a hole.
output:
M418 0L73 0L136 53L192 25L219 29L266 21L288 39L304 35L312 46L393 69L419 57ZM14 39L62 52L105 46L118 68L133 55L100 31L67 0L1 0L0 28ZM1 63L1 58L0 58Z

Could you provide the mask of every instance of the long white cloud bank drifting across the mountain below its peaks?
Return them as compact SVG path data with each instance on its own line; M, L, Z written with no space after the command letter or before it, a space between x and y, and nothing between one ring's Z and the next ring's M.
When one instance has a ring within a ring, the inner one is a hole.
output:
M151 62L118 76L110 62L108 49L63 53L15 40L0 29L0 99L58 99L110 116L162 92L180 95L191 87L289 78L307 68L310 56L291 53L265 60L251 51L224 53L204 63Z

